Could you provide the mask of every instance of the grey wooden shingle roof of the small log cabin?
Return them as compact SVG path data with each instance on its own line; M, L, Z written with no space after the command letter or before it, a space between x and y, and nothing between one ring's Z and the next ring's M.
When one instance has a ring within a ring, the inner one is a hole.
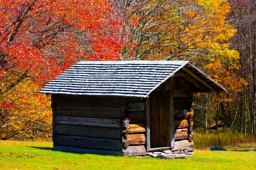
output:
M175 72L190 65L188 63L189 61L82 61L53 79L39 93L146 97ZM222 88L206 74L204 77Z

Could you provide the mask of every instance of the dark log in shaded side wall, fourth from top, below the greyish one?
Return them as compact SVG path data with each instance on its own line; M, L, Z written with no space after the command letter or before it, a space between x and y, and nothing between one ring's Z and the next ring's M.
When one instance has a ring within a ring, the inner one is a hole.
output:
M87 136L97 138L119 139L121 132L119 129L81 127L74 125L57 124L52 128L53 133L61 133L64 135Z

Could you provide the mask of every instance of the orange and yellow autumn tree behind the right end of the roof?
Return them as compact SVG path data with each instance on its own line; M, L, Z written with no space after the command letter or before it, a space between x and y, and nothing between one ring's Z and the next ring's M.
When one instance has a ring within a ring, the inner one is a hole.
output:
M126 0L130 42L122 49L125 59L187 60L201 68L229 91L228 95L209 95L200 99L200 108L207 114L212 106L214 117L233 115L232 103L245 85L240 69L239 53L230 48L229 40L236 34L227 20L227 0ZM207 103L208 102L208 103ZM231 105L231 106L230 106ZM221 109L222 108L222 109ZM226 113L227 112L227 113ZM230 113L228 113L230 112ZM213 112L212 112L213 113ZM205 119L207 115L204 116ZM212 120L212 122L214 122Z

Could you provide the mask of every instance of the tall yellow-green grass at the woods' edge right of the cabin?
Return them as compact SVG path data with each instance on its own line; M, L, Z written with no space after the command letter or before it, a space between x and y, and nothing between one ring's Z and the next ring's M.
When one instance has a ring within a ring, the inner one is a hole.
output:
M237 133L231 130L227 131L208 131L195 132L193 134L195 149L209 147L234 147L238 145L256 142L256 136L248 133Z

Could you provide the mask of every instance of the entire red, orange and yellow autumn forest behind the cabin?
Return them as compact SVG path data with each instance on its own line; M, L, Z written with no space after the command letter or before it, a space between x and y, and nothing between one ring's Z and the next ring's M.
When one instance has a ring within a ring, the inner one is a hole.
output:
M85 1L0 0L0 140L50 141L37 91L81 60L190 60L228 91L194 96L198 132L256 133L255 0Z

